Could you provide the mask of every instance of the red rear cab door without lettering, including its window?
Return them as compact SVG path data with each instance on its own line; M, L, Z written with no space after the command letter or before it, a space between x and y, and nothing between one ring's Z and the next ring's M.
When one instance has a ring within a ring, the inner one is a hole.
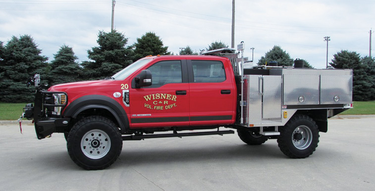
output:
M190 125L235 121L237 92L222 60L187 60L190 85ZM234 77L233 77L234 78Z

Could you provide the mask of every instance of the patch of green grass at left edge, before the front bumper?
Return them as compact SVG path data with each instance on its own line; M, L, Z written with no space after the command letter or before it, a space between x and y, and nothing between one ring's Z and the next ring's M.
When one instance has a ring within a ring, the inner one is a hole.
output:
M0 120L17 120L26 103L0 103Z

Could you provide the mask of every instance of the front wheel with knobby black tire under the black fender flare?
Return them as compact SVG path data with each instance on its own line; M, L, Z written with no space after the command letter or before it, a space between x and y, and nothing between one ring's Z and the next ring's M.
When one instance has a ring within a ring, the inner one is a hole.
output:
M102 116L78 121L67 138L70 158L87 170L105 169L121 153L122 138L116 125Z

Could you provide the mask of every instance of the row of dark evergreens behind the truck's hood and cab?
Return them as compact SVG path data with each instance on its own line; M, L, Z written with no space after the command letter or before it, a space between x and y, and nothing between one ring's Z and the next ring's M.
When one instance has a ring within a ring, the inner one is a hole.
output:
M42 84L55 84L98 80L112 76L134 61L148 55L170 55L167 46L154 32L147 32L137 38L133 45L128 45L128 38L123 33L113 30L100 31L98 46L87 50L89 61L77 62L73 48L62 45L48 62L48 57L41 55L30 35L11 37L4 44L0 42L0 101L1 102L32 102L34 90L27 88L25 82L34 74L41 75ZM213 46L228 47L222 42ZM179 54L198 54L189 46L181 48Z

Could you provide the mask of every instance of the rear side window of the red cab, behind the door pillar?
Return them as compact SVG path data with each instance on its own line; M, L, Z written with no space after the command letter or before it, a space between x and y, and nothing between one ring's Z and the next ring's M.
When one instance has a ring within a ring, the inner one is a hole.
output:
M218 83L225 81L224 65L220 61L192 60L195 83Z

